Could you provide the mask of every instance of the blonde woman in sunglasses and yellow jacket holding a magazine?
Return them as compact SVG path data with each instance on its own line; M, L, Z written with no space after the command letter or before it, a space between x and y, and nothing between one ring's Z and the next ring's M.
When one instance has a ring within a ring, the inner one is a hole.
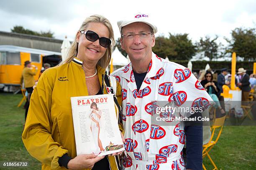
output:
M31 97L22 139L28 152L41 161L42 169L118 169L119 160L113 156L117 153L108 158L95 154L77 156L70 102L74 96L107 93L103 77L114 42L110 22L92 15L77 31L67 60L41 75ZM118 82L116 97L121 104ZM116 108L117 115L118 112Z

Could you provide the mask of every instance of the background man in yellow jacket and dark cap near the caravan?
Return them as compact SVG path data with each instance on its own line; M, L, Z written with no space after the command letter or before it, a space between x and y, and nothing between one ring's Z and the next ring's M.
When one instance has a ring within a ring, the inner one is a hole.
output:
M25 67L22 70L20 84L22 86L22 83L24 80L24 87L28 92L28 97L26 102L26 111L25 111L25 121L26 121L27 114L28 114L29 100L30 100L31 93L33 92L33 85L35 84L34 75L36 75L36 72L38 69L35 66L35 70L33 70L33 67L30 61L25 61L24 65Z

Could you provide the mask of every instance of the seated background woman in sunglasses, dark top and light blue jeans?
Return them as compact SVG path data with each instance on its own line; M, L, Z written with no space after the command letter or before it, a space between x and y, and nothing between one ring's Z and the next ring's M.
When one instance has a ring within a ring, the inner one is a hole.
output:
M222 114L225 114L225 110L220 106L220 101L218 99L218 92L220 89L217 87L217 82L213 81L213 76L211 71L207 71L205 73L205 80L201 81L201 85L205 88L205 90L208 92L210 97L212 97L212 100L214 100L215 102L214 106L218 107Z

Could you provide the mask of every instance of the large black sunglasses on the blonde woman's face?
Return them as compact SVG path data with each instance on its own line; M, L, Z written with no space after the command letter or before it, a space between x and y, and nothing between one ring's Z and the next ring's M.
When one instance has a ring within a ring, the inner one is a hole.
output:
M87 40L89 41L92 41L92 42L95 42L97 41L97 39L100 40L100 45L102 47L109 47L110 44L111 44L111 40L109 38L106 38L106 37L99 37L99 35L97 35L96 32L93 32L93 31L90 31L88 30L87 32L85 31L80 31L82 34L85 34L85 37L87 38Z

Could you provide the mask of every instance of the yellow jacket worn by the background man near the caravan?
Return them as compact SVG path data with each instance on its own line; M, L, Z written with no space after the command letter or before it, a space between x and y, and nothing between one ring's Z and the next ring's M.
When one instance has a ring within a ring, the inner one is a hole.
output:
M24 80L25 88L33 87L33 85L35 85L34 75L36 75L36 72L37 72L37 68L33 71L32 67L25 67L22 70L20 84L22 84Z

